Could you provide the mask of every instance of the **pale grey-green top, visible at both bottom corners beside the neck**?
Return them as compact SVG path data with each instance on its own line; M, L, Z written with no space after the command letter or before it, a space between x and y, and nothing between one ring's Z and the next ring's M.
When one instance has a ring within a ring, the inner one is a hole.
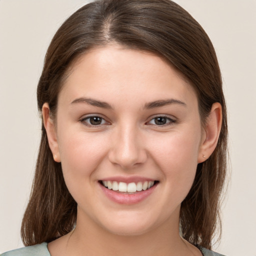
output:
M224 256L211 250L200 247L203 256ZM0 256L50 256L47 248L47 243L23 247L20 249L10 250L0 254Z

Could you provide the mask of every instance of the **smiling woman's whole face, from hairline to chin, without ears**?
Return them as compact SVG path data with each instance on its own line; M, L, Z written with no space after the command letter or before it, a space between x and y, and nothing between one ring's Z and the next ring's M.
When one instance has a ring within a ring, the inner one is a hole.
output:
M116 234L178 226L203 129L192 86L164 60L92 49L63 84L55 125L51 149L79 219Z

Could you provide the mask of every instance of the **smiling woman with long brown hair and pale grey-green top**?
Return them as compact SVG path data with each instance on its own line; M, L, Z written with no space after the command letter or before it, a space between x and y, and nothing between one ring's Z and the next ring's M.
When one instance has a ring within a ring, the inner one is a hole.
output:
M219 255L226 107L213 46L184 9L83 6L49 45L37 102L27 247L3 255Z

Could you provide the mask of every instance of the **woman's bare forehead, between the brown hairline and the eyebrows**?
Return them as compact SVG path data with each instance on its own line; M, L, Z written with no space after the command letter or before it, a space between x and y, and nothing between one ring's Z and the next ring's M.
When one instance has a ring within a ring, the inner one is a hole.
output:
M68 97L66 97L68 95ZM192 86L161 57L118 44L96 47L80 56L63 83L59 98L99 97L150 101L179 97L197 101Z

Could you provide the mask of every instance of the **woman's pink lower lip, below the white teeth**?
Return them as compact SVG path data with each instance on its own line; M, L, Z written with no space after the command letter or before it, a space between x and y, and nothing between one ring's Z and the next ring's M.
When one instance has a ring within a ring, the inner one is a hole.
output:
M134 203L143 201L154 191L157 185L158 185L158 182L146 190L137 191L133 194L123 194L123 193L118 193L112 189L108 189L99 183L99 186L101 187L105 195L110 200L120 204L134 204Z

